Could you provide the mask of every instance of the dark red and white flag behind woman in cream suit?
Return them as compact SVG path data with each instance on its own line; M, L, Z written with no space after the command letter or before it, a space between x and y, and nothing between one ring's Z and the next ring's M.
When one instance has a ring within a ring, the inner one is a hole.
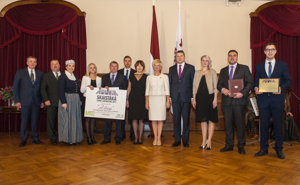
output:
M153 0L153 20L152 20L152 32L151 32L149 75L152 75L154 73L152 68L152 62L155 59L160 59L160 57L159 57L159 44L158 44L158 31L157 31L157 23L156 23L155 5Z

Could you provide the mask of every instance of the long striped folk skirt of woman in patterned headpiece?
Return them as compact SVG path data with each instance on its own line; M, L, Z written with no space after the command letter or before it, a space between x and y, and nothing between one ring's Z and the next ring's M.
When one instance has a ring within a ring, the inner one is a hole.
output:
M79 94L66 94L67 108L58 105L58 141L76 143L83 140Z

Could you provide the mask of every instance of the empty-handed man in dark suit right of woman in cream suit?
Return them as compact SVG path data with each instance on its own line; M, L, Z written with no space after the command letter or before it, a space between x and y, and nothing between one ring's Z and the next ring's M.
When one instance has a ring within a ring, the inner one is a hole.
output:
M174 137L175 143L172 147L181 144L181 118L182 143L189 147L190 140L190 106L193 98L193 80L195 67L185 62L185 55L182 50L176 52L176 65L169 68L170 102L173 106Z

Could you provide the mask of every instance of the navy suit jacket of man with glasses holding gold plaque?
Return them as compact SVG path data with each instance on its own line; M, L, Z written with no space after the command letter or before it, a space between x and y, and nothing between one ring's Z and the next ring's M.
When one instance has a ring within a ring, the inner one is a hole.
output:
M265 71L265 61L255 66L255 82L254 87L259 87L259 78L268 78L268 74ZM276 60L271 78L279 78L279 86L281 88L281 94L262 93L258 95L258 102L264 102L270 94L272 101L284 102L284 90L292 85L292 80L289 75L289 69L285 62Z

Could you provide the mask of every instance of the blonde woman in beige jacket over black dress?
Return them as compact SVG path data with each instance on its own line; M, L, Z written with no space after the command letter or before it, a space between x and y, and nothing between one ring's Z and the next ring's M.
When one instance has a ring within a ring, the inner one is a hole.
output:
M214 123L218 123L217 111L217 72L211 68L208 55L201 57L202 69L195 72L193 82L193 107L196 109L196 122L201 122L202 144L199 147L211 149L211 138L214 134ZM207 136L208 124L208 139Z

